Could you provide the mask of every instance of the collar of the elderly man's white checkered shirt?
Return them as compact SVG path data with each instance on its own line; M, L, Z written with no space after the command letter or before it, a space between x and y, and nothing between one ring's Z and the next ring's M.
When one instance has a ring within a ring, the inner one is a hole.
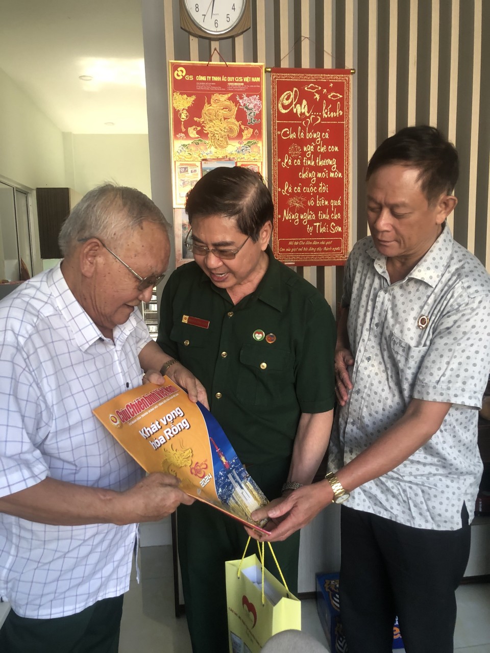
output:
M58 263L52 270L48 272L48 286L52 292L56 306L59 312L65 319L69 329L73 334L76 345L82 351L86 351L90 345L93 345L97 340L106 340L101 333L101 330L95 325L90 315L86 313L84 308L78 303L72 291L61 272L61 263ZM114 342L118 340L120 335L125 332L125 327L134 327L135 317L133 313L124 325L117 325L114 328Z

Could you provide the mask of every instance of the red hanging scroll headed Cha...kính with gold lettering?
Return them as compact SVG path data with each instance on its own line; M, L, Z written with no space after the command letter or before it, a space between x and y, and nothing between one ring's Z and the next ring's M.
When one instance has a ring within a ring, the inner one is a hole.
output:
M351 71L274 68L271 78L274 255L293 265L342 265Z

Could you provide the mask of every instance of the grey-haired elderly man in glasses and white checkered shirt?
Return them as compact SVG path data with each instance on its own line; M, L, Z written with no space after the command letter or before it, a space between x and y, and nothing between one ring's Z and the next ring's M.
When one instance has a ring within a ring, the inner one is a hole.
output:
M116 653L137 522L193 501L170 475L143 477L92 414L169 366L137 308L167 269L167 223L105 185L59 244L61 264L0 302L0 650ZM169 375L206 403L186 368Z

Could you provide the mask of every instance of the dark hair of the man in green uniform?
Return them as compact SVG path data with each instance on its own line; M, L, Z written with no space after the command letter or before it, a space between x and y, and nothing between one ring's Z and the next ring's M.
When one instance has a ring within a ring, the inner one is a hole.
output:
M261 228L274 218L274 204L261 174L241 166L220 166L188 192L186 213L191 226L195 217L234 218L238 229L257 242Z

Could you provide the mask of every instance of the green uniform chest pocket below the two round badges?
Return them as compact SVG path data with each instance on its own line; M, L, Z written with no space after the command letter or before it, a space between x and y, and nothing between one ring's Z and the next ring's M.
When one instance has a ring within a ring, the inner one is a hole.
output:
M247 344L240 349L237 398L244 404L265 406L280 403L294 386L293 356L288 349Z

